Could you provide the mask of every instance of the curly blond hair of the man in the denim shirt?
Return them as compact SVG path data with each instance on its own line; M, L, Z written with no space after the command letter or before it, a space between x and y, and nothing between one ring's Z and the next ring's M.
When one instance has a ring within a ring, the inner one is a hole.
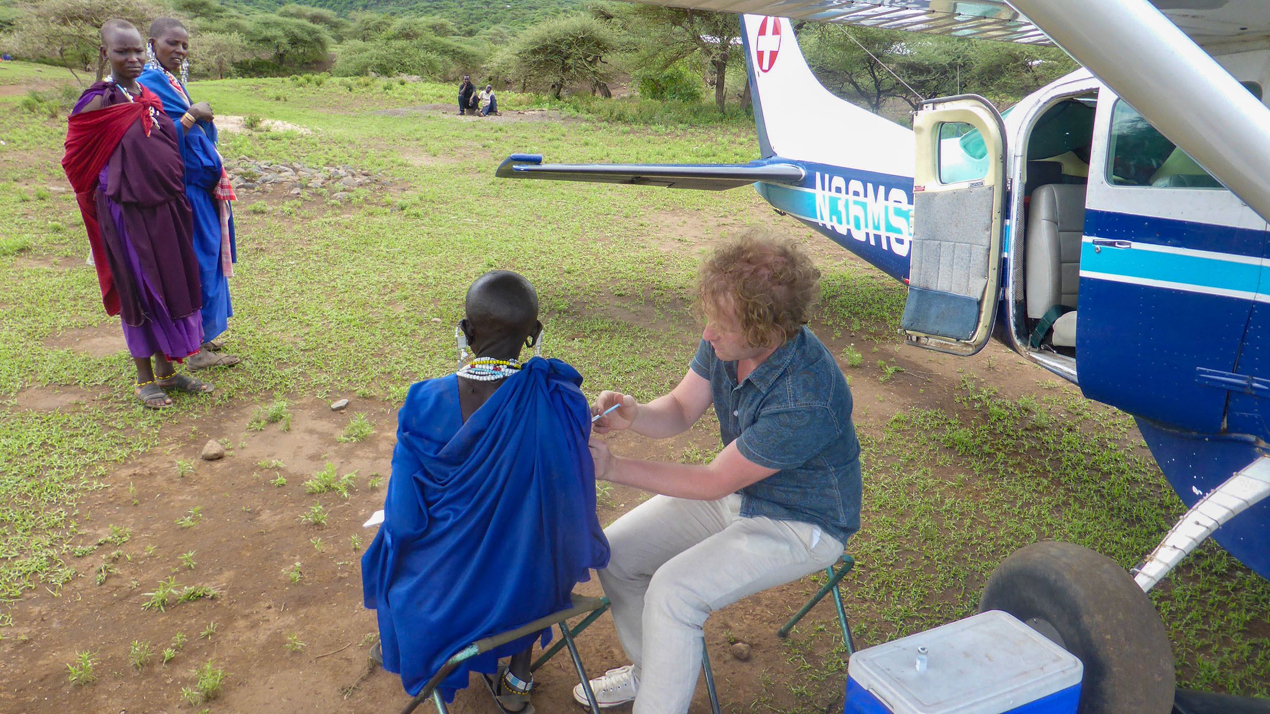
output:
M751 347L785 342L808 323L820 271L796 243L749 229L719 245L697 271L700 309L732 309Z

